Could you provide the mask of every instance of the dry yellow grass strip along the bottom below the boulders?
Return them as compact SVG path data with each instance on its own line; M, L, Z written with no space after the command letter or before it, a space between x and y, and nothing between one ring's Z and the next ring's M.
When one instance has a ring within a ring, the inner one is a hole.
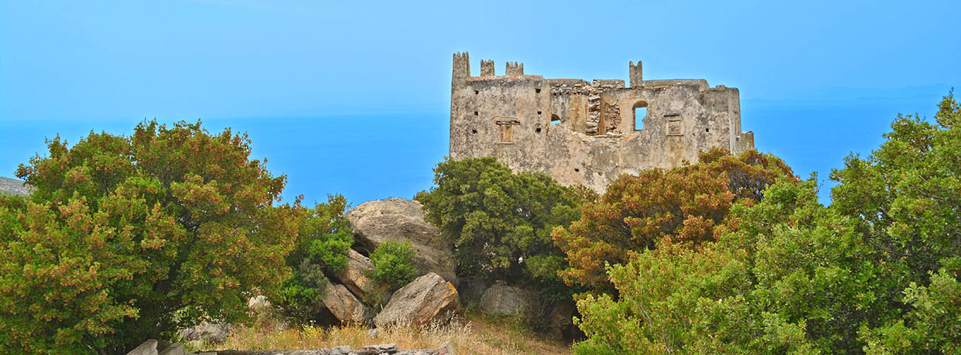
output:
M371 338L370 328L359 325L335 327L305 327L303 329L274 330L274 326L259 324L234 329L231 336L219 344L187 343L193 350L308 350L349 345L361 348L378 343L396 343L401 349L437 348L451 342L458 355L516 355L571 353L570 343L532 333L517 319L487 318L478 315L456 318L446 325L426 327L399 325L378 329Z

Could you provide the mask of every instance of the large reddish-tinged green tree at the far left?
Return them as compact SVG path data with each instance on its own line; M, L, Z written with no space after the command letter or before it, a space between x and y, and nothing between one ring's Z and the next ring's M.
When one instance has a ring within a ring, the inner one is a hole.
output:
M0 352L122 354L180 326L246 319L289 274L300 213L246 134L143 122L21 165L0 204Z

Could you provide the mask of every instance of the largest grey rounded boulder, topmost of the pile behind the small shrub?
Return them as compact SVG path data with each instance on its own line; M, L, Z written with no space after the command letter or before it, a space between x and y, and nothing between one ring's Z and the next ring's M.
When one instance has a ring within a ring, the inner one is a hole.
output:
M363 202L347 211L357 248L370 255L383 241L408 241L414 249L417 270L434 272L456 283L454 249L424 219L421 207L420 202L395 198Z

